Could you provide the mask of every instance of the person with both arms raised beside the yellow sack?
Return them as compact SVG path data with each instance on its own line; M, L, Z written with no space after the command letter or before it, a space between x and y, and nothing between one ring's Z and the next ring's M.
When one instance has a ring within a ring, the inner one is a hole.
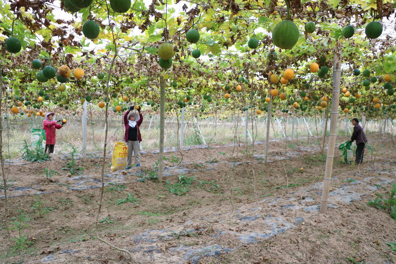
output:
M132 154L135 156L136 167L140 167L140 142L142 142L142 135L140 135L139 126L143 122L143 115L140 113L140 107L136 109L139 114L131 112L133 109L134 106L129 107L129 110L124 114L124 140L128 145L127 166L125 169L132 167Z

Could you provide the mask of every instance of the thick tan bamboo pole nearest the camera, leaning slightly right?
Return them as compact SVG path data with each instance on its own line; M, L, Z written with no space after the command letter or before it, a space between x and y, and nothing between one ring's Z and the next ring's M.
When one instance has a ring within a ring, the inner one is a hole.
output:
M327 202L330 189L331 172L333 168L334 160L334 148L335 139L337 132L338 122L338 107L340 103L340 85L341 85L341 47L337 41L334 48L334 64L333 64L333 97L331 100L331 111L330 111L330 135L327 149L326 169L323 180L323 191L320 203L320 213L325 214L327 211Z

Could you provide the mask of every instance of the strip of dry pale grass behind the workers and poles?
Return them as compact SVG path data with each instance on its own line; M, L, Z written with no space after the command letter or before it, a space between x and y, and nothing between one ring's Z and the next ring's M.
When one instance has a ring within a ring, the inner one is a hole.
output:
M81 151L82 146L82 126L80 116L56 116L56 119L66 118L68 123L61 130L56 131L56 146L55 152L57 153L69 153L71 146L77 146L78 151ZM4 138L5 138L5 156L7 158L20 157L21 156L21 146L23 140L30 141L30 131L32 128L42 127L42 118L27 118L25 116L9 116L4 123ZM195 128L194 121L191 118L186 118L187 127L184 134L184 146L202 144L202 140ZM308 125L313 136L317 133L319 136L322 135L322 124L321 120L317 120L317 130L315 128L315 120L307 118ZM153 150L159 148L159 116L155 116L151 124L150 130L148 129L150 123L150 118L145 115L145 121L140 127L142 132L143 142L142 147L144 150ZM235 124L238 123L238 129L235 137ZM291 136L292 132L292 118L282 120L282 127L287 136ZM381 123L382 124L382 123ZM265 140L266 135L266 124L265 116L260 116L254 125L254 137L255 141ZM351 124L348 124L352 132L353 128ZM199 120L199 126L208 144L213 143L230 143L234 139L237 141L245 141L245 128L242 124L241 119L238 122L233 122L232 117L228 120L217 120L216 129L214 124L214 119ZM248 128L251 133L252 122L249 120ZM272 126L270 128L270 138L282 139L281 130L277 122L273 119ZM378 123L369 123L366 130L379 131ZM307 137L308 131L305 127L302 119L297 119L295 127L296 135L298 139L300 137ZM104 121L103 116L94 116L92 119L88 116L88 128L87 128L87 151L97 152L103 149L104 141ZM389 131L391 132L391 127ZM345 136L345 120L341 119L338 123L338 135ZM178 132L178 122L176 116L171 118L166 118L165 120L165 147L178 146L178 134L180 134L180 129ZM350 136L351 133L348 134ZM109 118L109 130L108 130L108 146L111 148L112 142L123 141L124 137L124 125L122 116L117 116L112 114ZM249 139L248 139L249 140ZM303 142L302 142L303 143Z

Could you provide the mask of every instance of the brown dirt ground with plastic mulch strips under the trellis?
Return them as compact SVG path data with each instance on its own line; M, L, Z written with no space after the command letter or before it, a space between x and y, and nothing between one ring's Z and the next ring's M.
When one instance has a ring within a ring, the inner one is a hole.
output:
M337 138L338 142L345 140ZM6 168L9 195L42 193L9 198L12 237L19 236L15 228L20 221L18 217L25 216L20 232L30 244L15 249L6 259L7 232L2 223L0 261L396 263L396 251L385 244L396 242L396 221L387 212L367 205L377 194L387 195L391 183L396 182L394 142L371 135L375 152L367 151L360 166L343 163L336 150L335 178L330 191L358 195L349 201L344 199L348 195L330 196L326 214L316 210L321 199L326 151L321 153L315 139L301 142L271 142L268 164L260 156L264 144L255 145L254 150L241 144L183 151L180 165L177 165L179 152L166 153L169 158L166 167L174 173L170 172L172 175L165 181L177 183L182 174L179 171L186 171L186 177L196 179L183 195L172 194L164 183L137 181L153 171L156 154L142 155L142 167L119 174L109 172L108 158L106 173L120 175L124 182L123 186L105 188L99 236L131 250L132 260L96 239L95 215L100 189L71 188L78 174L70 175L69 170L62 169L68 159L55 156L43 163L18 160L16 163L21 162L20 165ZM77 159L76 166L83 167L79 175L83 178L78 181L90 179L90 183L99 185L101 162L100 157ZM48 180L44 168L57 173ZM31 187L34 188L30 190ZM128 194L137 198L135 203L117 204ZM4 198L1 199L3 215ZM306 211L308 208L313 210ZM276 222L273 225L276 230L267 226L270 221ZM162 236L171 229L167 236ZM272 232L270 229L275 230L271 236L262 235ZM197 248L209 246L216 250L209 250L210 254L209 251L193 253ZM153 249L148 250L150 247Z

